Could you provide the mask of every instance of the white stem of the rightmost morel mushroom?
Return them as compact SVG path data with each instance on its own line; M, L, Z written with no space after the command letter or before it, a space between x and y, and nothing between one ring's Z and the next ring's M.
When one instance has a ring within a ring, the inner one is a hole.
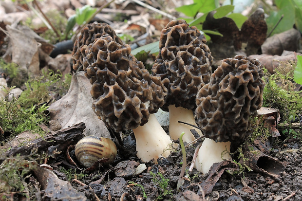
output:
M194 167L203 174L207 174L212 164L231 160L230 145L230 142L216 143L214 140L205 138L198 151Z

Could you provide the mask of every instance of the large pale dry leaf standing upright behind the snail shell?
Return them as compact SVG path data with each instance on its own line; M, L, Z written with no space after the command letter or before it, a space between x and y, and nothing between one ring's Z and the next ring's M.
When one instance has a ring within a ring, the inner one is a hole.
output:
M84 122L85 135L110 138L105 124L92 110L91 84L84 72L74 73L68 93L49 107L51 120L61 123L62 128Z

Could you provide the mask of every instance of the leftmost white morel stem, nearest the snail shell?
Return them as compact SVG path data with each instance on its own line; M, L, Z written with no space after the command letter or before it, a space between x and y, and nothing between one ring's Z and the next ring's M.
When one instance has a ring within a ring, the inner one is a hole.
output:
M132 129L135 141L137 157L143 162L159 157L167 158L173 148L173 142L165 130L160 126L154 114L150 114L148 122L144 126Z

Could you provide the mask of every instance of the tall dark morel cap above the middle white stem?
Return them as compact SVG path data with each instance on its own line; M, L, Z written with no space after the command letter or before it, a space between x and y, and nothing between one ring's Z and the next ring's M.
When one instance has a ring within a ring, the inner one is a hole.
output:
M210 81L213 57L206 38L195 26L183 20L172 20L162 30L159 54L152 74L159 75L168 89L166 104L195 110L196 94Z

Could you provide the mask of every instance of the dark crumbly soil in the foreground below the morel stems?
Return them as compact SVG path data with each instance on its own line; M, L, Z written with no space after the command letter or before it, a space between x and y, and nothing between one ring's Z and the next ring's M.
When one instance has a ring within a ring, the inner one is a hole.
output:
M135 158L135 154L123 156L121 153L125 153L125 150L119 150L112 166L102 167L82 181L90 184L81 187L78 183L73 185L79 191L85 192L91 201L95 200L95 195L100 200L113 201L202 201L203 197L207 201L301 201L302 143L295 139L287 140L286 144L278 139L276 142L266 154L284 165L283 172L278 177L247 170L240 173L224 171L209 193L204 192L201 187L208 174L203 176L195 169L187 174L188 178L180 189L176 189L182 162L180 147L167 159L159 159L158 164L146 163L147 169L138 176L132 176L132 173L137 166L133 165L133 161L140 163L139 159ZM124 139L124 143L126 150L135 150L135 141L131 135ZM194 147L187 147L186 152L187 161L190 162Z

